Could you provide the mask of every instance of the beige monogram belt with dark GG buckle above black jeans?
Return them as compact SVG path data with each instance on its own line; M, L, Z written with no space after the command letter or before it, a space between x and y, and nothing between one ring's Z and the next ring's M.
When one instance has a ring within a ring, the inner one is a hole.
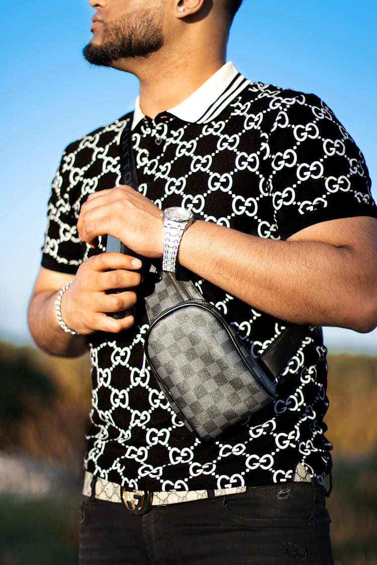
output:
M300 465L301 473L293 474L292 481L302 483L310 482L310 475ZM95 483L93 485L93 478ZM94 488L94 492L93 492ZM98 500L107 502L123 503L125 508L132 514L145 514L152 506L167 506L180 502L192 502L204 500L229 494L240 494L246 492L247 486L234 486L215 490L161 490L151 492L149 490L129 490L118 483L111 483L101 477L94 477L92 473L85 472L84 476L84 496L94 496Z

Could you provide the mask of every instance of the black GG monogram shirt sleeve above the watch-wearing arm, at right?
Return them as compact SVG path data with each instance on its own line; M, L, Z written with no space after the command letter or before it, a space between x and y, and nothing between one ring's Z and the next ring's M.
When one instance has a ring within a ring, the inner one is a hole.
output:
M281 239L321 221L377 217L365 159L330 108L291 91L274 105L263 166Z

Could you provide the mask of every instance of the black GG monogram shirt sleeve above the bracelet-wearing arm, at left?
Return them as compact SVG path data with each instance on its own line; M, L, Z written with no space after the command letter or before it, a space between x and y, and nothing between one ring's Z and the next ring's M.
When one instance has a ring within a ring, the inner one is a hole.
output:
M47 208L47 229L42 246L42 267L52 271L75 274L84 259L84 246L77 234L78 211L73 200L73 145L64 151L51 187Z

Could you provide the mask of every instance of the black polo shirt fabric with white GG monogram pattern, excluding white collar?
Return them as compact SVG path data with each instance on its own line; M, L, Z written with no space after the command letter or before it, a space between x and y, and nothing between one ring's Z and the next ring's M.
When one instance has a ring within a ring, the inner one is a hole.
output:
M43 249L46 268L75 273L90 253L77 236L81 204L120 184L120 134L132 115L69 145L53 182ZM324 220L376 215L362 154L314 95L252 83L224 84L195 121L164 112L132 132L140 192L161 208L262 238L286 239ZM127 219L125 219L127 221ZM203 296L257 357L284 322L193 275ZM148 329L140 289L135 327L90 337L93 397L85 468L129 489L239 488L294 480L297 468L323 480L331 445L326 348L309 328L277 387L252 418L201 444L177 418L144 358Z

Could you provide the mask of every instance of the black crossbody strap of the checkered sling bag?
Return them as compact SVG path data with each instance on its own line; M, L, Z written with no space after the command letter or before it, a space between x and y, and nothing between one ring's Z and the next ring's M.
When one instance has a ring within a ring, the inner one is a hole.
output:
M119 143L121 180L123 184L127 184L137 190L137 171L131 138L133 112L127 114L124 118L128 118L128 122L123 129ZM185 279L184 276L180 277L180 279L182 278ZM179 282L182 284L182 280ZM188 285L189 292L192 293L194 288L192 281L187 281L186 279L184 284ZM169 289L168 292L167 289ZM172 285L171 280L156 283L155 292L150 297L146 297L149 316L155 318L162 310L174 306L179 301L183 301L182 299L179 300L179 295L174 294L174 297L172 296L173 289L174 285ZM271 376L275 383L280 380L278 379L280 373L287 367L293 355L297 353L298 348L308 333L309 327L307 325L289 324L257 358L262 369Z

